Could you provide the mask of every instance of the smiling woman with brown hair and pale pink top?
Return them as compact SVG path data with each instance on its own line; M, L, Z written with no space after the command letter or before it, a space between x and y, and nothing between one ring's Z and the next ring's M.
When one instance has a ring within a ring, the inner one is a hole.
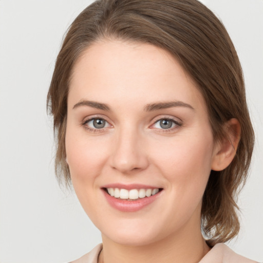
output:
M239 231L254 134L235 48L209 9L91 4L67 32L48 103L57 175L102 233L74 262L255 262L222 244Z

